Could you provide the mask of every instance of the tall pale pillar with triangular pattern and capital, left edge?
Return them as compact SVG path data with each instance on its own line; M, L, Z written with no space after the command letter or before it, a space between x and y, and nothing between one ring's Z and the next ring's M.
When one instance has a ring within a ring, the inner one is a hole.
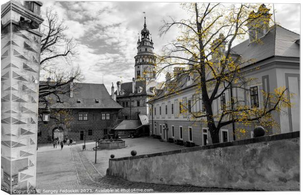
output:
M1 5L1 190L9 193L36 187L41 6Z

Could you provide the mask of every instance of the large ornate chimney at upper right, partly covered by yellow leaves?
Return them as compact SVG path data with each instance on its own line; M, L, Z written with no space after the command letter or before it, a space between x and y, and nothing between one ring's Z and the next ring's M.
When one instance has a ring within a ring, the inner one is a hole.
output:
M248 16L246 26L248 28L249 42L263 37L269 30L269 21L272 14L264 4L261 4L258 12L252 11Z

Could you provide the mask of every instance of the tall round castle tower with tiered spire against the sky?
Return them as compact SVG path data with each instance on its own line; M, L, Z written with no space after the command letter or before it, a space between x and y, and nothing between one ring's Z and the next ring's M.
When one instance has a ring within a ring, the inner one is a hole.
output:
M141 30L141 40L137 42L138 52L135 58L136 80L150 80L155 78L156 57L153 53L153 42L150 39L150 31L147 29L146 17L144 17L144 28Z

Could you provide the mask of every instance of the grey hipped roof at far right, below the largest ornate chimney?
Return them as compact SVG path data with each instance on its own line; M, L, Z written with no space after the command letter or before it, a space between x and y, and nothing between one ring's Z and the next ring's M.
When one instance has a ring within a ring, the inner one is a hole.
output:
M260 38L260 42L250 43L249 39L246 39L234 46L231 51L232 54L241 56L243 61L247 61L244 66L274 56L300 58L298 39L299 34L276 24Z

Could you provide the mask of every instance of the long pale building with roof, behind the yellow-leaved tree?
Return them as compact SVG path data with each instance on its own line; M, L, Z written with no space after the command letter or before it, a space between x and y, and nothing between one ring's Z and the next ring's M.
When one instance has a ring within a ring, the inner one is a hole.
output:
M276 88L286 87L287 97L293 105L283 108L280 113L272 112L280 128L267 129L266 134L300 131L300 35L274 25L260 40L262 44L247 39L232 48L242 59L254 59L253 63L245 64L241 71L245 77L255 80L245 86L250 91L233 88L233 91L227 90L221 98L216 99L213 103L214 115L222 112L222 105L231 102L231 97L241 99L247 106L254 104L260 108L265 100L262 90L270 93ZM206 121L206 117L194 118L191 114L203 111L202 100L195 101L199 89L194 79L187 79L185 85L176 88L172 94L166 93L163 88L149 101L151 135L161 136L164 140L193 142L195 145L212 143L207 123L202 122ZM182 112L182 105L187 105L190 111ZM256 125L258 122L249 127L242 126L246 131L240 134L235 129L241 125L226 125L220 129L220 142L253 137Z

